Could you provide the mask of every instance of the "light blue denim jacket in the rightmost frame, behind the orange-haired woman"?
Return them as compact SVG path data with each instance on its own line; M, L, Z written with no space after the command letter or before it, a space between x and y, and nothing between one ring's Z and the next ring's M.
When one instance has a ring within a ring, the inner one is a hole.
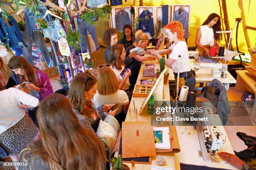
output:
M181 13L179 13L179 10L176 10L174 12L173 15L173 20L174 21L179 21L180 23L182 23L183 26L183 30L185 30L184 32L184 38L188 38L188 13L187 11L185 11L184 9L182 10Z

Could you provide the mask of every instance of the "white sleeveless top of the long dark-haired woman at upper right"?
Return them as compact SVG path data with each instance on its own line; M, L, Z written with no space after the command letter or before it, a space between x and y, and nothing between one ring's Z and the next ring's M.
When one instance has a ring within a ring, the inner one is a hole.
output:
M213 29L209 28L207 25L200 26L201 37L199 43L201 45L210 45L211 47L214 45L214 35Z

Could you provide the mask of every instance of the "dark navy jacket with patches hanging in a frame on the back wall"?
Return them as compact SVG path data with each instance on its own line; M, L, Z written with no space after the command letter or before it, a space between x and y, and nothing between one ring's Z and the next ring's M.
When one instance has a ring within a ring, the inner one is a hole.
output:
M140 14L140 18L145 19L140 20L140 22L138 23L138 30L142 30L143 32L149 32L151 36L154 36L153 14L146 10Z

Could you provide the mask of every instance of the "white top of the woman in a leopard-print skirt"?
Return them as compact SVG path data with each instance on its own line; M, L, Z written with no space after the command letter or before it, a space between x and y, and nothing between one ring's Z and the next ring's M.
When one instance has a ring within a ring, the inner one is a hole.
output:
M0 134L18 123L26 114L20 102L36 107L39 101L13 87L0 91Z

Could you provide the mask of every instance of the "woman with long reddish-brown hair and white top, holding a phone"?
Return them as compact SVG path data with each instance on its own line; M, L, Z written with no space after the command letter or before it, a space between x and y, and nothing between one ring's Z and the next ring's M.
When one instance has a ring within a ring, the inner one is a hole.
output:
M125 49L121 44L115 44L111 47L110 50L110 59L109 63L111 65L110 68L115 73L115 76L118 78L119 87L118 89L124 90L127 94L130 93L130 81L129 76L131 75L131 70L126 69L123 64L123 60L125 60Z

